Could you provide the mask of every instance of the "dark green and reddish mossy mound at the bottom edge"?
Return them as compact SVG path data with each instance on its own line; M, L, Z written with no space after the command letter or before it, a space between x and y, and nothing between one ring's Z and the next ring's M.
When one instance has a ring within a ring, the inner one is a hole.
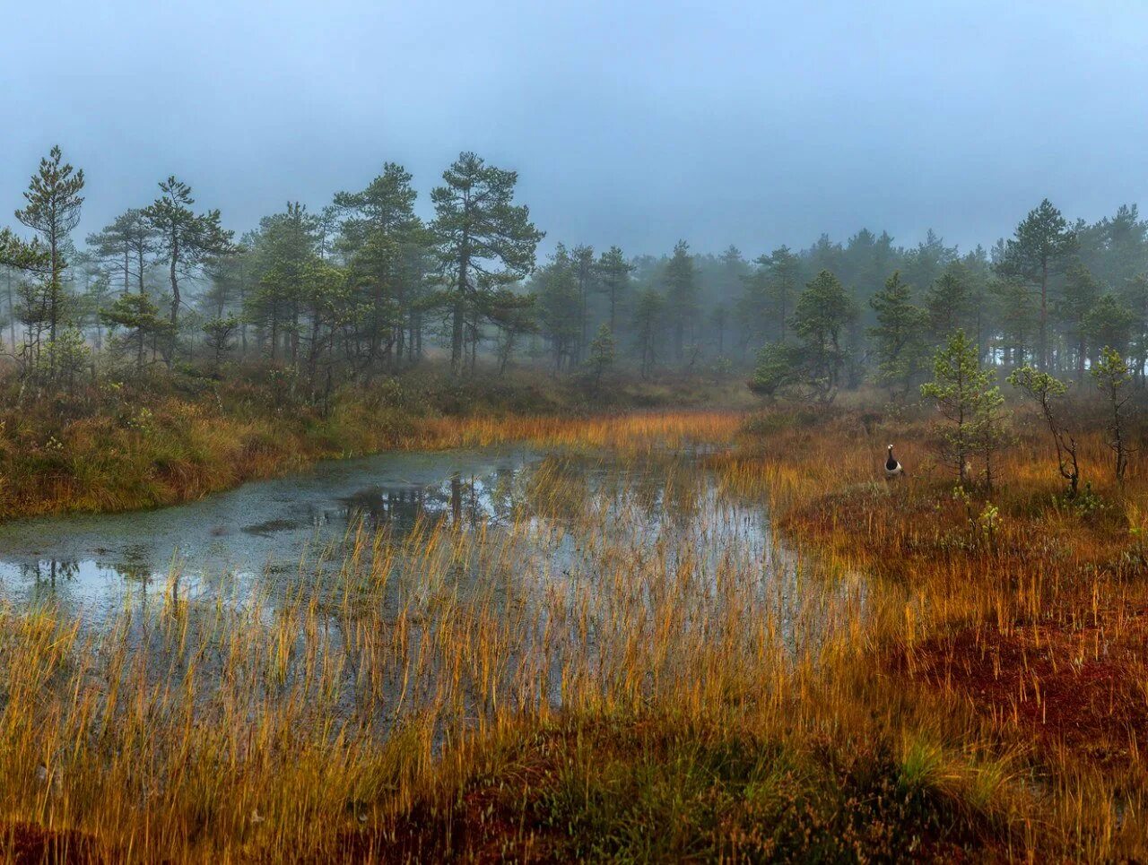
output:
M486 767L336 856L386 862L651 859L961 862L990 827L902 782L887 748L847 758L635 719L560 725L494 746Z

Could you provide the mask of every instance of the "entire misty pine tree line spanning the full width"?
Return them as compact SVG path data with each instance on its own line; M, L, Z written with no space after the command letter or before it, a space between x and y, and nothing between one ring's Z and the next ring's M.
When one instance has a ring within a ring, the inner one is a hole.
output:
M312 393L449 358L457 375L515 363L599 381L614 365L752 369L768 396L823 402L876 381L908 395L960 329L980 363L1083 379L1102 349L1148 366L1148 221L1122 205L1069 223L1048 201L990 249L930 231L912 247L862 229L747 259L737 248L662 256L556 243L515 201L518 176L460 154L429 193L386 163L317 211L287 202L238 234L170 177L83 244L84 172L53 148L24 227L0 233L3 350L20 375L71 385L188 364L281 367Z

